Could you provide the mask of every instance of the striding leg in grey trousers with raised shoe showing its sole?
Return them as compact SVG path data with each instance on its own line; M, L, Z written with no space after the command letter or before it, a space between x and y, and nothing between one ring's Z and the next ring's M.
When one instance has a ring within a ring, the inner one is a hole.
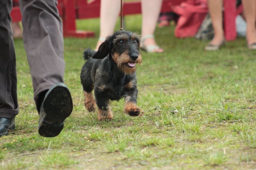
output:
M65 61L57 0L20 0L19 5L23 42L39 112L39 134L57 136L73 109L70 92L63 84Z

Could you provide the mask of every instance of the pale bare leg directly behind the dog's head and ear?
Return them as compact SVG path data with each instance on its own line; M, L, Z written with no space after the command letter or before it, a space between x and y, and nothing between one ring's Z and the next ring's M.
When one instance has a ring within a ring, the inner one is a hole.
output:
M100 37L95 48L96 51L105 38L113 34L120 9L120 0L100 1Z

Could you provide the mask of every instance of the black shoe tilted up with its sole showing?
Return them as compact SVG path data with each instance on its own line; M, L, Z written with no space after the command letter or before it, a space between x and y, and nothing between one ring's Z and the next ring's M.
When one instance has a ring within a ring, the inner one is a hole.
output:
M45 94L39 112L39 134L54 137L60 134L64 120L73 109L70 91L63 83L53 85Z

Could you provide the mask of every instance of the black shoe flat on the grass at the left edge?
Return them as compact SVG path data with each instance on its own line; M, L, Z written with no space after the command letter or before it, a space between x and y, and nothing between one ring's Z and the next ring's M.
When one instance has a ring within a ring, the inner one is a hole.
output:
M0 137L3 135L8 135L8 130L13 130L15 128L15 117L12 119L7 119L0 117Z

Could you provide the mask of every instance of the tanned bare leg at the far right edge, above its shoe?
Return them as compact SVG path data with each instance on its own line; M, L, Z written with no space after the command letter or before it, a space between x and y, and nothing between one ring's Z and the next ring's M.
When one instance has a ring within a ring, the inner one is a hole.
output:
M248 45L256 43L256 1L242 0L243 11L246 19L246 40Z

